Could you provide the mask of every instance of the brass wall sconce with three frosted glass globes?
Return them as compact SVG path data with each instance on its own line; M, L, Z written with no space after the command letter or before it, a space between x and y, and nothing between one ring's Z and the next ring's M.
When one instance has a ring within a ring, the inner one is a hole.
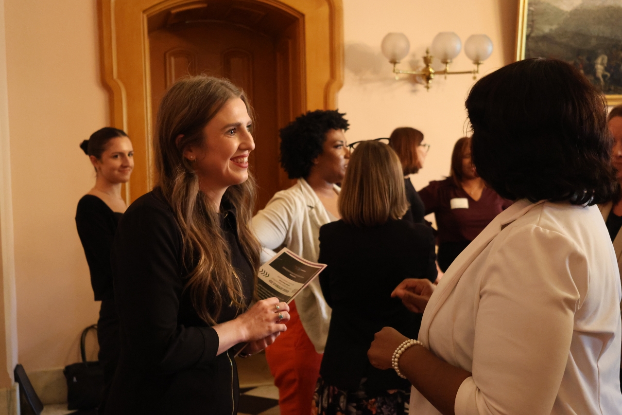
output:
M474 34L466 39L465 54L473 61L475 69L460 71L449 70L452 60L458 56L462 49L462 41L454 32L440 32L434 37L432 41L433 55L430 55L430 49L425 50L423 57L425 66L420 70L397 69L397 64L408 55L411 49L411 44L403 33L389 33L384 36L381 48L383 55L393 64L396 80L399 79L399 74L420 75L425 80L425 89L430 90L435 75L445 75L445 79L447 79L447 75L471 74L473 79L476 79L480 73L480 65L493 53L493 42L485 34ZM445 69L437 71L432 68L434 57L439 58L440 62L445 65Z

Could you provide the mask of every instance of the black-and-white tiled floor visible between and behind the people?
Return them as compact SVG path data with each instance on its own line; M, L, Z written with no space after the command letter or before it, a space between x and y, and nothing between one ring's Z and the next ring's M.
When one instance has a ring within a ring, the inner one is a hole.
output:
M240 386L238 415L280 415L279 389L274 386L263 353L248 359L236 359ZM96 415L68 411L67 404L46 405L41 415Z

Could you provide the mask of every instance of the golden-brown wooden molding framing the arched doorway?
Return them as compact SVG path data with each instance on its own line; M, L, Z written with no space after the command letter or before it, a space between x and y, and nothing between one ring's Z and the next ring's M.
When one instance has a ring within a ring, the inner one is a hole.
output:
M341 0L234 0L278 7L300 19L304 29L302 110L335 109L343 85L343 5ZM149 17L167 9L197 7L197 0L98 0L101 72L110 93L110 123L132 138L135 168L126 199L150 191L153 118L149 65ZM295 114L296 115L296 114Z

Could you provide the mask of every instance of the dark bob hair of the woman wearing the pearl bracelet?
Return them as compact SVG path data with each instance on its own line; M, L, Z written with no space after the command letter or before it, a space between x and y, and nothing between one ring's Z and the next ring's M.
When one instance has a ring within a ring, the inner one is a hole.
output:
M466 98L478 174L506 199L615 198L606 104L571 65L534 58L480 79Z

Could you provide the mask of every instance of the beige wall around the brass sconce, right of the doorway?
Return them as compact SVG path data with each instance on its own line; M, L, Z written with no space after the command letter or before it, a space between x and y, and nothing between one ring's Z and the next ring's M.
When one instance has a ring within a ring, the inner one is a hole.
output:
M398 126L417 128L431 148L424 169L412 176L415 188L441 179L449 173L453 144L466 134L464 100L474 81L470 75L437 77L429 92L407 79L396 81L380 43L388 32L406 34L411 55L402 61L401 69L410 69L408 61L422 64L425 48L438 32L456 32L463 43L471 34L485 33L494 45L481 67L485 74L513 62L518 0L343 3L346 70L338 104L350 120L348 141L388 137ZM464 52L452 65L453 70L472 67Z

